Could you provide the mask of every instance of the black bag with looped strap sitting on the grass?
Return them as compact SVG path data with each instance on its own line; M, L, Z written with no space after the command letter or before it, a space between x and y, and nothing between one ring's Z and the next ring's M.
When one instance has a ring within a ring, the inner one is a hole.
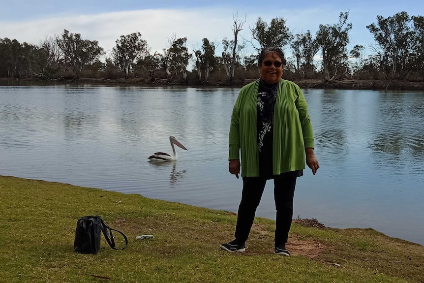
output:
M116 244L112 230L120 233L125 239L125 246L123 248L115 247ZM100 216L91 215L81 217L77 221L74 241L75 252L96 254L100 249L100 231L103 232L106 241L112 249L123 250L128 246L128 239L121 231L110 228Z

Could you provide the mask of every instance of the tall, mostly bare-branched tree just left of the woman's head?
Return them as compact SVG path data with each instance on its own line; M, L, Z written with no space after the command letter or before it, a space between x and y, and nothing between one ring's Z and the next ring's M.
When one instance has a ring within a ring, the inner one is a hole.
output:
M237 54L240 52L242 48L244 48L243 45L238 45L238 36L239 32L243 29L243 24L246 22L246 18L244 18L244 21L238 19L238 15L233 14L233 34L234 39L228 40L227 37L224 37L222 40L223 44L223 51L222 51L222 63L224 64L225 71L227 73L228 83L231 85L234 82L234 71L236 68L236 61L237 61ZM231 53L230 53L231 50ZM239 58L240 60L240 58Z

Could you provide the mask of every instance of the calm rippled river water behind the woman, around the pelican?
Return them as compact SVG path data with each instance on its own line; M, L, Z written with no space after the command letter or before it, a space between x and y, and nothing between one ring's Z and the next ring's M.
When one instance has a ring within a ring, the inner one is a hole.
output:
M303 91L321 168L298 179L294 217L424 245L424 92ZM227 136L238 92L3 82L0 175L237 212L242 180L228 173ZM150 162L172 152L171 134L189 151ZM275 219L272 188L257 216Z

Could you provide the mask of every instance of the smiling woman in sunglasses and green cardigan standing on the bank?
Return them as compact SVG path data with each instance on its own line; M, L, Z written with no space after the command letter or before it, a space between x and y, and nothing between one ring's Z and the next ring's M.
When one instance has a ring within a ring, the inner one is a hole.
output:
M265 184L273 179L274 252L290 255L285 244L293 218L296 178L303 175L305 159L314 175L319 168L306 100L298 85L281 79L285 63L279 48L264 48L258 61L261 77L242 87L233 108L229 170L239 178L242 167L243 189L236 239L220 246L228 252L245 251Z

